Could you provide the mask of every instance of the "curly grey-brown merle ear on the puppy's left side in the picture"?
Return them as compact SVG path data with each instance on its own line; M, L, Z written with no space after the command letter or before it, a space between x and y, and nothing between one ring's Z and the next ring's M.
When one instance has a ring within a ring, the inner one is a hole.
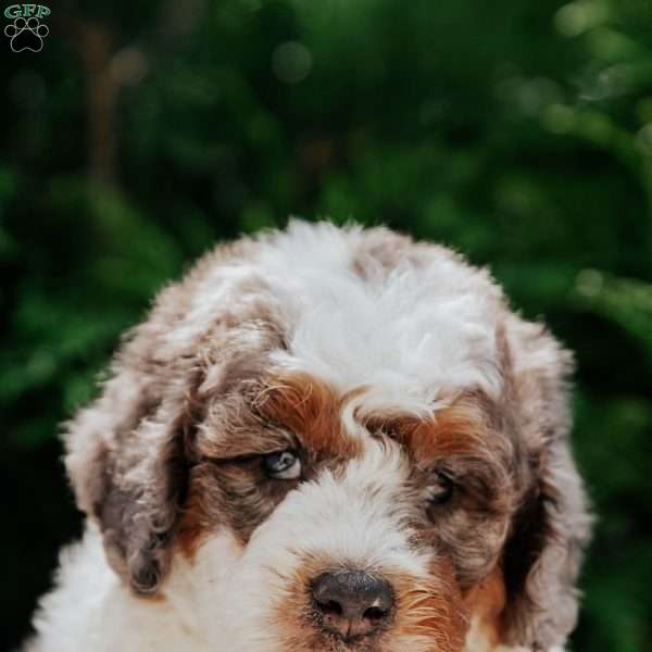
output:
M109 563L137 594L151 595L170 565L196 418L192 388L170 369L159 377L129 358L117 359L100 398L70 424L65 463Z

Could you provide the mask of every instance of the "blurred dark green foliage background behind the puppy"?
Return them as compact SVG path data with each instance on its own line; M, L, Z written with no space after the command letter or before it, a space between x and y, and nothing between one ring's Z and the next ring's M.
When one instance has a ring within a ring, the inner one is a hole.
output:
M79 532L58 434L121 331L298 214L451 244L577 352L573 649L652 650L651 2L50 7L42 51L0 35L0 649Z

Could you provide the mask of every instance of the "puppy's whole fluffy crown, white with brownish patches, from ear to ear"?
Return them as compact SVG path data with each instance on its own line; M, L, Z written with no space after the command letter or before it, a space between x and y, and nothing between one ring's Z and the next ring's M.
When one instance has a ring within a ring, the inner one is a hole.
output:
M486 271L381 229L292 223L249 244L188 280L171 355L210 334L227 356L265 351L275 373L340 394L364 386L369 412L427 413L472 389L500 396L506 304Z

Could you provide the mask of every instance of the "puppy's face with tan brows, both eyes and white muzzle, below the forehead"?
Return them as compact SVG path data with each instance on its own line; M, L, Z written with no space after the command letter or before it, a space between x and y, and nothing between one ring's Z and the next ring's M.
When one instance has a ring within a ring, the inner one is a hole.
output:
M208 411L178 536L209 592L223 582L220 636L453 652L474 616L497 636L519 469L479 397L424 418L366 413L364 390L305 375L243 386ZM226 577L211 543L225 531L239 551Z

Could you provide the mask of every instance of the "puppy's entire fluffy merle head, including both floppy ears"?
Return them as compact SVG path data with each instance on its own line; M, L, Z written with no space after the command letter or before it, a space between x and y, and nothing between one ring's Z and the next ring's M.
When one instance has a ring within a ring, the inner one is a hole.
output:
M550 650L588 536L569 365L448 250L294 224L160 296L66 463L116 573L216 649Z

